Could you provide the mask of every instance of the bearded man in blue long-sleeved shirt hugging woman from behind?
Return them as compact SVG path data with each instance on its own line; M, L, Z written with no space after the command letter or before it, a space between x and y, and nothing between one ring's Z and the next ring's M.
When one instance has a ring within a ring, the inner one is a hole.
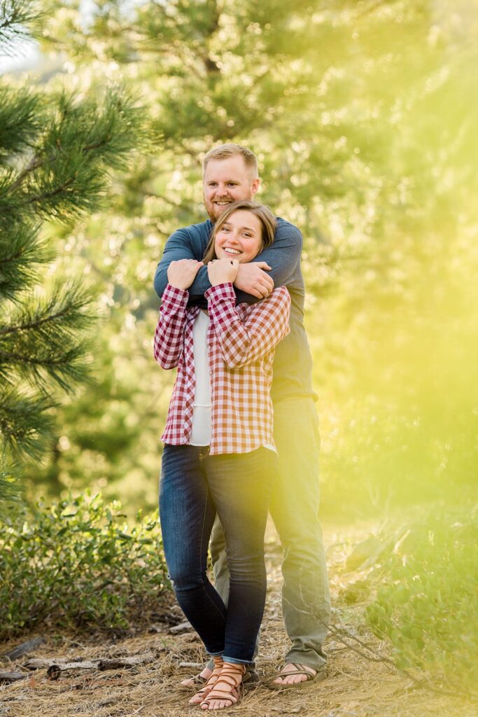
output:
M253 199L259 189L257 158L249 149L226 144L204 158L204 205L209 219L171 234L155 275L161 297L172 261L201 260L216 219L232 201ZM302 235L285 219L277 218L274 243L249 264L240 264L234 281L239 302L266 298L275 286L285 285L292 300L290 333L279 343L274 359L271 396L274 403L274 442L279 452L278 475L270 513L283 549L282 614L292 646L272 688L297 688L325 677L322 642L330 619L330 596L325 566L319 508L319 435L312 360L303 324L305 289L300 270ZM190 301L206 306L210 288L206 267L201 267L188 289ZM226 600L229 575L220 526L211 537L216 589ZM207 679L204 668L200 678Z

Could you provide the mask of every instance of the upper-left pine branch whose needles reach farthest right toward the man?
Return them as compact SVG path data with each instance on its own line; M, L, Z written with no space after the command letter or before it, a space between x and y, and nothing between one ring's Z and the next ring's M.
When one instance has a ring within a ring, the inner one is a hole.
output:
M101 108L64 93L57 103L33 156L11 177L9 192L20 211L70 222L102 204L108 172L124 168L149 133L143 110L119 90L107 92Z

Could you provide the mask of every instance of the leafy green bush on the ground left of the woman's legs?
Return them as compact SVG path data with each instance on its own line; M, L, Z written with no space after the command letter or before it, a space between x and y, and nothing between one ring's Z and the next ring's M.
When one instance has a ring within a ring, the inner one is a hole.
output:
M128 528L120 503L100 494L7 519L0 575L2 639L45 623L128 627L169 587L157 516Z

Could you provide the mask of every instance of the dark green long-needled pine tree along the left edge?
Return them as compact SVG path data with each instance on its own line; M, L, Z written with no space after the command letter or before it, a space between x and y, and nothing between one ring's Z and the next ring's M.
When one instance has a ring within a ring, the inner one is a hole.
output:
M0 54L39 17L24 0L0 4ZM35 87L0 85L0 500L15 493L25 460L39 461L51 409L87 380L95 303L79 279L42 287L54 257L42 229L69 226L101 206L111 170L146 136L121 90L102 103Z

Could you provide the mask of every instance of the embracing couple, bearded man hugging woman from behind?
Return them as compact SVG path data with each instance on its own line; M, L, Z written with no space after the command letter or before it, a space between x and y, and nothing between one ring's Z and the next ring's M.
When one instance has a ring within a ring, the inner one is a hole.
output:
M247 148L211 150L203 184L209 219L174 232L156 271L154 355L178 369L162 436L161 529L176 598L210 658L186 680L200 685L190 703L210 710L236 704L258 679L268 511L282 543L292 642L269 687L325 676L330 599L302 237L252 201L259 177Z

